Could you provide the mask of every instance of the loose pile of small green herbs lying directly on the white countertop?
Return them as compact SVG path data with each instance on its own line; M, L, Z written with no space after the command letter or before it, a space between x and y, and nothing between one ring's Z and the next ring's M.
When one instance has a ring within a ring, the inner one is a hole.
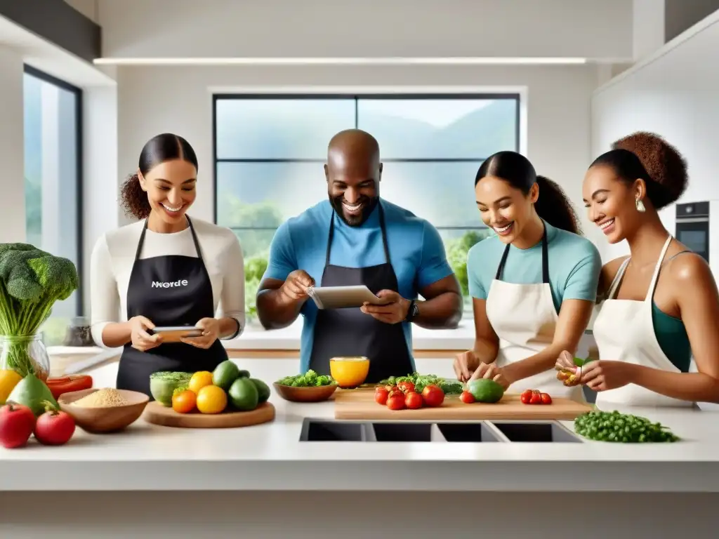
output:
M661 423L651 423L638 415L595 410L574 420L574 430L594 441L646 443L675 442L679 437Z

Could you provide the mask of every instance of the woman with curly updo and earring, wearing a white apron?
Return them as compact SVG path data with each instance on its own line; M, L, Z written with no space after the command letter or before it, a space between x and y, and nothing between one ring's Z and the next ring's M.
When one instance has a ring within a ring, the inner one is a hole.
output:
M600 408L719 402L717 286L705 259L674 239L657 213L687 181L677 149L644 132L615 142L585 176L590 220L611 244L626 240L630 254L602 270L604 301L593 326L600 360L578 368L563 353L557 369L599 392ZM692 354L698 372L690 373Z

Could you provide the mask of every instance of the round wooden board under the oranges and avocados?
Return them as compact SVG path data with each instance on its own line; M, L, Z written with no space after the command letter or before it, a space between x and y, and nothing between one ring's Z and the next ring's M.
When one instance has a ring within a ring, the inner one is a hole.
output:
M275 419L275 407L271 402L264 402L249 412L223 412L219 414L203 414L193 412L180 414L170 407L162 406L153 400L148 402L142 418L147 423L163 427L180 428L235 428L260 425Z

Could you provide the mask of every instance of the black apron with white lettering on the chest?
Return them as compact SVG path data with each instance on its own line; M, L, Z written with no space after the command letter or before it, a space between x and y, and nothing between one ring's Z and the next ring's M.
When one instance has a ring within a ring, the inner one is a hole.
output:
M127 285L128 320L133 316L145 316L157 327L194 326L201 318L214 317L210 277L189 217L187 222L195 243L196 258L173 254L140 259L147 231L145 220ZM165 287L163 283L172 286ZM227 351L219 339L206 350L191 344L166 343L139 351L132 348L132 343L127 343L120 356L116 387L139 391L152 399L150 374L153 372L211 372L227 358Z

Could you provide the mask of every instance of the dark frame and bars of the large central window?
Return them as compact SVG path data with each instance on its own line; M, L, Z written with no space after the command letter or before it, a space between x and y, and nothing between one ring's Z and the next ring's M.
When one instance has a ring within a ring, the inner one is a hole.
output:
M213 161L213 178L212 178L212 204L213 204L213 222L217 224L218 210L218 193L217 193L217 172L218 165L222 162L235 163L319 163L324 164L324 159L250 159L250 158L229 158L217 157L217 103L218 101L252 101L252 100L302 100L302 99L324 99L334 100L340 99L354 101L354 128L359 125L359 101L371 100L399 100L399 101L421 101L421 100L438 100L445 99L448 101L457 100L496 100L496 99L513 99L515 101L515 129L514 129L514 151L520 151L521 144L521 93L518 92L472 92L472 93L213 93L212 94L212 161ZM329 142L329 141L328 141ZM489 157L449 157L449 158L383 158L383 162L409 162L409 163L452 163L452 162L483 162ZM277 230L276 227L255 227L255 226L231 226L233 232L242 230ZM436 226L438 231L447 230L485 230L487 227L479 226Z

